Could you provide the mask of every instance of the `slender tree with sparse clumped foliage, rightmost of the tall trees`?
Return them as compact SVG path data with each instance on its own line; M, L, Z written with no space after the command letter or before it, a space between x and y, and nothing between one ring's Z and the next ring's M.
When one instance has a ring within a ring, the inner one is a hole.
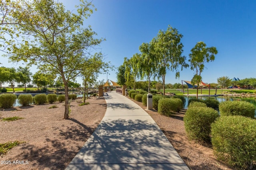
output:
M196 43L195 47L191 49L188 61L190 62L190 69L196 71L191 80L193 85L197 84L196 98L198 98L198 87L202 81L201 73L205 68L204 64L214 61L217 53L216 47L206 47L206 44L202 41Z

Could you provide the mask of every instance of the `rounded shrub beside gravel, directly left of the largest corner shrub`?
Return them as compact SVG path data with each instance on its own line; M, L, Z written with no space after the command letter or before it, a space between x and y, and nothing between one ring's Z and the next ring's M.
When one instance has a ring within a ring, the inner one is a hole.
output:
M189 107L184 116L188 138L196 141L209 141L211 124L218 116L218 111L210 107Z

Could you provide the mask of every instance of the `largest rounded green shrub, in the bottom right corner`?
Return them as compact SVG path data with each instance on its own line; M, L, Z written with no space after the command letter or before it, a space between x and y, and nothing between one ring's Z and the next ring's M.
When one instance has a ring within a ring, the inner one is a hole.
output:
M228 164L251 169L256 160L256 120L244 116L221 116L212 124L214 154Z

